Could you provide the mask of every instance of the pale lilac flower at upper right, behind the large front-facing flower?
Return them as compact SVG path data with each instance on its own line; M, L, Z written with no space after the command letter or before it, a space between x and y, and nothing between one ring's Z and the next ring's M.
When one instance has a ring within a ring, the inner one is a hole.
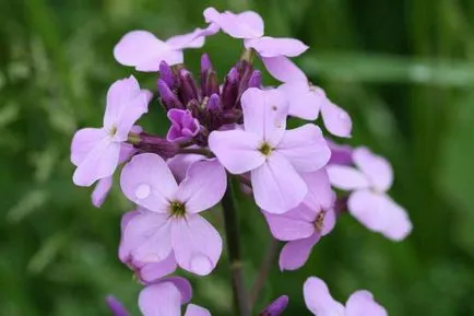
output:
M348 114L333 104L324 91L303 81L289 81L279 86L289 101L289 115L304 119L317 119L321 112L324 127L334 136L351 137L352 120Z

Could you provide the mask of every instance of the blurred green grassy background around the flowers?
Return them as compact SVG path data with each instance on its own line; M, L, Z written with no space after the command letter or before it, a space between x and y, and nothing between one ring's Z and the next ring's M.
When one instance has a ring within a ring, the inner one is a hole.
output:
M304 269L273 265L258 306L285 293L285 315L309 315L303 282L319 276L341 301L372 291L390 315L474 315L470 0L0 1L0 315L109 315L108 293L137 308L140 286L117 259L120 215L131 204L116 186L94 209L91 190L72 185L69 144L78 128L100 124L110 83L133 72L111 54L121 35L188 32L203 25L210 4L257 10L268 35L311 47L297 63L352 114L351 143L392 161L391 194L415 227L395 244L344 216ZM240 49L224 35L205 47L221 78ZM189 68L202 51L187 52ZM155 74L138 78L154 90ZM143 125L164 132L157 102L151 108ZM239 206L250 286L270 235L247 199ZM229 315L228 280L224 251L216 273L192 279L194 302Z

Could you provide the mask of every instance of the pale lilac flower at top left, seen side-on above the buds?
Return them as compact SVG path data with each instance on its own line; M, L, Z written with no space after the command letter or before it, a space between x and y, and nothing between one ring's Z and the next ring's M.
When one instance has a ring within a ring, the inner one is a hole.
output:
M158 71L162 61L168 65L182 63L183 49L202 47L205 36L215 32L198 27L191 33L163 42L147 31L132 31L115 46L114 57L121 65L134 67L138 71Z

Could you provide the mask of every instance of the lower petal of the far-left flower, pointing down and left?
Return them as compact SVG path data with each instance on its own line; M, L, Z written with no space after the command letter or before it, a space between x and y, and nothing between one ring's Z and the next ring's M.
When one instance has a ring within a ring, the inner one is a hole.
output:
M109 138L102 139L81 161L72 176L78 186L88 187L98 179L109 177L117 168L120 143Z

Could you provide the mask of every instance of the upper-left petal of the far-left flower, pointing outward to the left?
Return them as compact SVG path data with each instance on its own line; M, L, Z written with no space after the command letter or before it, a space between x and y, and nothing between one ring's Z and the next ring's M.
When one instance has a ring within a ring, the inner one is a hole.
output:
M71 162L78 166L106 137L107 132L102 128L83 128L78 130L71 142Z

